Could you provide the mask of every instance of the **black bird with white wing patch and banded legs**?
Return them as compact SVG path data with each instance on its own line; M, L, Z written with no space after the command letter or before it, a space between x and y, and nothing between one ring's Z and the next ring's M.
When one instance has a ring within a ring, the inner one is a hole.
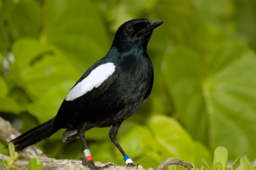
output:
M123 120L129 118L149 98L154 82L154 69L147 55L147 44L153 30L163 21L145 18L123 23L116 31L107 55L83 73L62 102L58 114L13 139L16 150L49 138L59 129L66 129L62 141L80 137L90 169L96 167L84 136L93 127L109 127L109 137L120 150L126 164L134 166L116 135ZM84 163L84 162L83 162Z

